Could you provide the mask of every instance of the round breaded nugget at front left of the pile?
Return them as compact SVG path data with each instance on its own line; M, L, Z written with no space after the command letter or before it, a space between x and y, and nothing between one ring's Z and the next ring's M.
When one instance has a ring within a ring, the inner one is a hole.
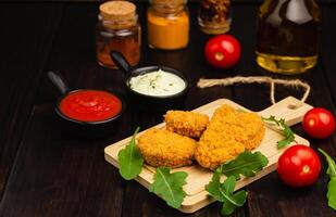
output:
M176 168L192 164L195 140L166 129L149 129L137 141L144 159L151 166Z

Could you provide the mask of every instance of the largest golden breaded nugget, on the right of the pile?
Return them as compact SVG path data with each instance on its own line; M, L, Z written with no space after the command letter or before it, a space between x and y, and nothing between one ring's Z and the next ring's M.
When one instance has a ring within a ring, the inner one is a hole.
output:
M215 169L245 150L258 146L264 133L265 127L257 114L224 104L214 112L200 138L195 158L202 167Z

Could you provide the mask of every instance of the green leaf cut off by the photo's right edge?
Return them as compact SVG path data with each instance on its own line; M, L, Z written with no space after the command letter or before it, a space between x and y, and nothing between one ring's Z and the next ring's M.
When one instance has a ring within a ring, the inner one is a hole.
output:
M336 210L336 164L335 161L322 149L319 149L319 151L325 156L326 162L328 163L326 173L329 175L331 180L327 184L328 191L326 193L326 197L328 199L329 207Z

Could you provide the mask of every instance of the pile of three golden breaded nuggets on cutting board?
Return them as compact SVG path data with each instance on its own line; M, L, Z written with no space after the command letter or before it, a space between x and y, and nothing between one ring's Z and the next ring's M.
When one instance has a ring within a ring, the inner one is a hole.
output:
M245 150L257 148L265 133L262 119L227 104L208 115L169 111L166 129L151 128L137 140L144 159L151 166L177 168L196 162L215 169Z

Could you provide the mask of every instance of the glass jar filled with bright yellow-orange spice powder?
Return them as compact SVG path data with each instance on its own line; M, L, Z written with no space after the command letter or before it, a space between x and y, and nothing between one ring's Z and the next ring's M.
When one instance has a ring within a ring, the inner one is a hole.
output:
M189 13L185 0L151 0L147 11L149 47L176 50L189 41Z

